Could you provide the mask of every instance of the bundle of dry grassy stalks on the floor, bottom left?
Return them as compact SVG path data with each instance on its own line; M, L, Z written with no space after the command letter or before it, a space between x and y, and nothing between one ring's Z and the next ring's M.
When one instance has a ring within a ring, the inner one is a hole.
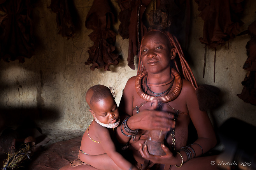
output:
M25 147L24 147L25 146ZM30 146L28 144L23 144L18 151L8 152L8 158L4 162L2 170L13 170L14 168L22 167L21 163L27 158L30 159Z

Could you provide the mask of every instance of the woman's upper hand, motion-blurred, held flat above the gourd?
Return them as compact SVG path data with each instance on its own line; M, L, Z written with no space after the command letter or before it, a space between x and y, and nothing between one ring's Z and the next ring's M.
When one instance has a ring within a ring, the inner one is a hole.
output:
M175 127L174 114L165 111L156 111L157 102L153 103L150 109L140 111L127 121L131 129L163 130L169 131Z

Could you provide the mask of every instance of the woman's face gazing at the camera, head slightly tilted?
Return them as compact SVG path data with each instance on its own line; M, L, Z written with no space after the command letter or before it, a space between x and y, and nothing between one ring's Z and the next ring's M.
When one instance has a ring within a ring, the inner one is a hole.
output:
M141 46L142 63L149 73L170 71L170 42L166 35L158 31L147 33Z

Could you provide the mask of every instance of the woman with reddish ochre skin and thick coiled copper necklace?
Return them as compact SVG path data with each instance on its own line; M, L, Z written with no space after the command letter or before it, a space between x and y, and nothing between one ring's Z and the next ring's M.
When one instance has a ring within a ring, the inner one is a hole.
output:
M137 76L126 83L119 104L120 113L129 116L117 129L119 140L129 141L140 169L217 169L216 156L202 156L216 145L216 135L207 113L200 110L199 89L177 38L168 31L149 30L141 40ZM190 121L198 137L188 143ZM165 138L161 155L150 154L144 144L158 141L152 139L157 131Z

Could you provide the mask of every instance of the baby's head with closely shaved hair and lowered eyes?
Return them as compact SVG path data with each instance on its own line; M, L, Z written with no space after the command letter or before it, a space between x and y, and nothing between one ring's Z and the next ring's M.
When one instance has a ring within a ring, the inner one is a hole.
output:
M109 88L95 85L86 92L86 102L93 118L104 124L116 123L119 117L117 104Z

